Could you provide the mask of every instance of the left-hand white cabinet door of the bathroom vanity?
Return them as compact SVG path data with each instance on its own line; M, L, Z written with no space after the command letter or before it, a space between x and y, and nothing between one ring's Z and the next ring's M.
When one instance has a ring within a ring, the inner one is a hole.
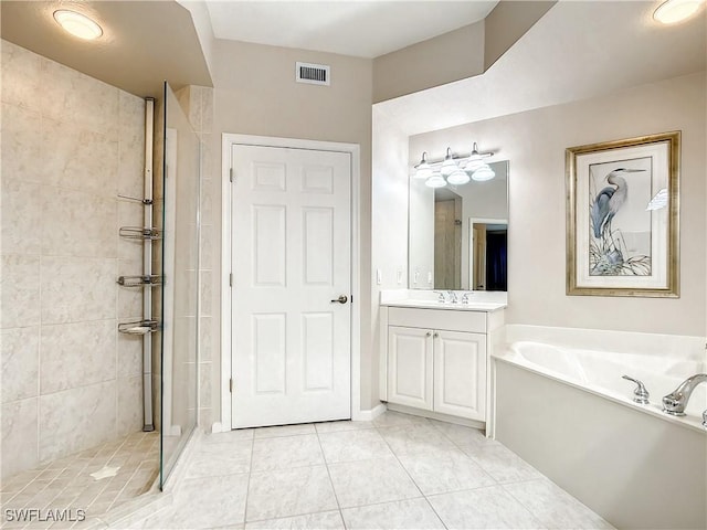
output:
M432 410L433 331L388 327L388 401Z

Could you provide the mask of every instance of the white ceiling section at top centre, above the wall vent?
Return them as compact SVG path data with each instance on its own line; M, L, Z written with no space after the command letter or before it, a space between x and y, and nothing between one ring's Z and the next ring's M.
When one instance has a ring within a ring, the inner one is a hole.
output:
M217 39L377 57L477 22L497 1L207 0Z

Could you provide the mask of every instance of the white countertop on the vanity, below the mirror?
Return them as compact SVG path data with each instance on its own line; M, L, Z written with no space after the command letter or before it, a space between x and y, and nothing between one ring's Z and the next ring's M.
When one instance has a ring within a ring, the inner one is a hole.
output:
M456 292L461 300L464 293ZM383 290L380 305L388 307L415 307L420 309L445 309L452 311L497 311L507 306L506 293L473 292L468 303L439 301L439 294L422 290Z

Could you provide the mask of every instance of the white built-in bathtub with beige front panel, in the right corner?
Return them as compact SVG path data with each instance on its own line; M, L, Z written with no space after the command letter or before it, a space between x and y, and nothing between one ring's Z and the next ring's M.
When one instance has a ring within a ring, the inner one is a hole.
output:
M707 385L686 416L661 399L705 372L705 339L507 326L490 434L616 528L707 528ZM651 404L633 402L642 380Z

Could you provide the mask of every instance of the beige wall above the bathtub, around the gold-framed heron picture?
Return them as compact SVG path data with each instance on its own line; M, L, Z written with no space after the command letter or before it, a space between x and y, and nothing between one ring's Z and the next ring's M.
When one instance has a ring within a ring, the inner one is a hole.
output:
M425 149L472 141L510 161L506 321L705 336L705 73L415 137ZM564 149L682 130L680 298L567 296Z

